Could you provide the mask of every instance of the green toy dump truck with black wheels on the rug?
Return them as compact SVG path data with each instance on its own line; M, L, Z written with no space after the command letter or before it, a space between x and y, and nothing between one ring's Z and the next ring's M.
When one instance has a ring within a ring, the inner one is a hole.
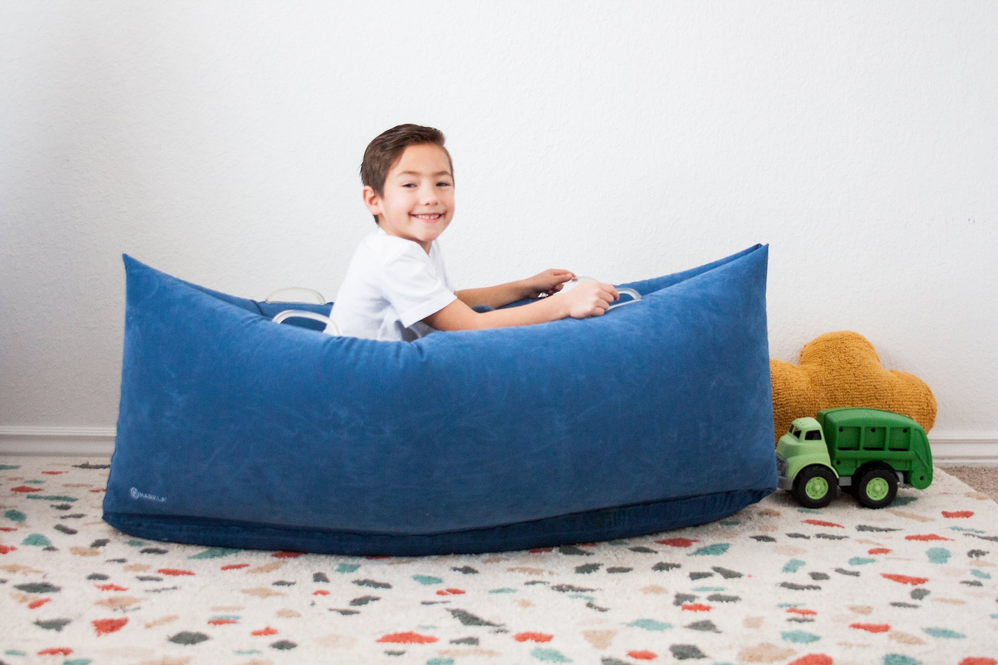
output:
M889 505L904 484L932 482L932 450L921 425L876 408L825 408L797 418L776 444L779 488L805 508L821 508L839 486L867 508Z

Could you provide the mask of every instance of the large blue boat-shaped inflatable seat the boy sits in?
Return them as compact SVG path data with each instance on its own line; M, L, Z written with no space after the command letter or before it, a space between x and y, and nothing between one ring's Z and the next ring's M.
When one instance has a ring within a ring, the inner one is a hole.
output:
M665 531L776 487L767 246L603 317L413 342L278 325L125 256L104 519L144 538L476 553Z

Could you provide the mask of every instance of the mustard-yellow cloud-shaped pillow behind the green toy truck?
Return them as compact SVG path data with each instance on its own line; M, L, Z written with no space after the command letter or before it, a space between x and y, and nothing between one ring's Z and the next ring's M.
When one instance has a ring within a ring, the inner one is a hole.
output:
M804 344L797 364L769 360L772 421L778 439L794 418L822 408L865 406L907 415L925 431L935 424L936 400L925 381L880 363L859 333L824 333Z

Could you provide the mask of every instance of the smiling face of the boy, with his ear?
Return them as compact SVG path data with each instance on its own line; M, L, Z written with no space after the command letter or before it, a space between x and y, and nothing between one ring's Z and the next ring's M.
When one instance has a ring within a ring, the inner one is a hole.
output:
M454 179L447 154L433 144L406 147L388 171L384 196L365 186L363 198L386 234L416 242L429 254L430 244L454 216Z

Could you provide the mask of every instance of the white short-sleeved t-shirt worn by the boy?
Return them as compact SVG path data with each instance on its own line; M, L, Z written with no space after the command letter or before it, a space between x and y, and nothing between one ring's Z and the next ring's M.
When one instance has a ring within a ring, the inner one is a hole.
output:
M423 319L455 300L436 241L427 255L378 228L353 253L329 318L351 337L412 341L434 331Z

